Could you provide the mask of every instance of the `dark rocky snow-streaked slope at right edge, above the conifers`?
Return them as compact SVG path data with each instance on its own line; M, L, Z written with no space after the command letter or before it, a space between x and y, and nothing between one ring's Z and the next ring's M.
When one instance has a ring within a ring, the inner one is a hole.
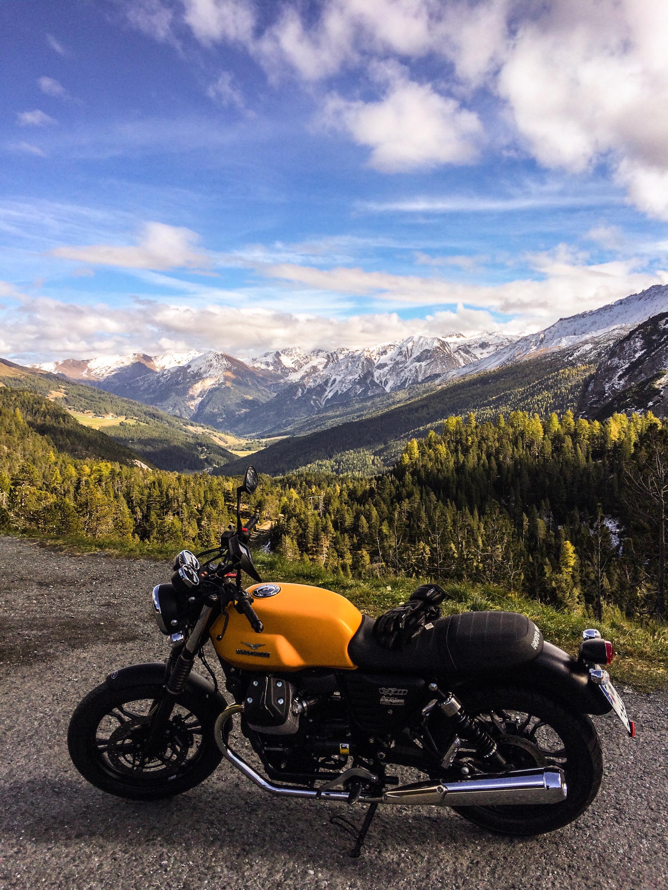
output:
M602 360L582 390L578 411L603 420L615 411L668 416L668 312L633 328Z

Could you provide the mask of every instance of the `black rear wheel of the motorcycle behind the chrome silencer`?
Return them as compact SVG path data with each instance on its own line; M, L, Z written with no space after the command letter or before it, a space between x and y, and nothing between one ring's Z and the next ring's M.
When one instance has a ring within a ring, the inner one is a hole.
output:
M603 753L588 716L540 692L515 687L479 689L462 693L461 699L509 763L516 769L559 766L567 790L558 804L454 807L460 816L499 834L530 837L563 828L591 805L603 778ZM527 716L533 719L522 729Z

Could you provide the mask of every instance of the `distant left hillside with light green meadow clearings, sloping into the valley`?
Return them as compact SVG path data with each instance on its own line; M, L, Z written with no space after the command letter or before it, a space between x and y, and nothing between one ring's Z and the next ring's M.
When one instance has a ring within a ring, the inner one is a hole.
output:
M110 443L115 441L132 449L135 457L163 470L198 472L235 459L232 452L209 435L193 433L188 429L188 422L179 417L94 386L73 383L60 375L33 372L0 359L0 384L37 392L70 411L125 418L119 419L117 425L105 426L104 433L99 434ZM212 431L212 434L216 433Z

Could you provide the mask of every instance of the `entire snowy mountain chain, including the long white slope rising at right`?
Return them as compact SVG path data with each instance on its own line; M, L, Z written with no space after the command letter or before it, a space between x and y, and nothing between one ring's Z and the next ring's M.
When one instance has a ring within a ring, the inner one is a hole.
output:
M425 384L442 385L531 356L559 352L571 362L598 362L633 328L666 311L668 286L656 285L519 338L411 336L363 350L305 352L289 347L248 362L212 350L135 353L41 367L176 417L233 433L273 436L317 424L321 416L323 425L329 425L326 416L350 408L378 413L392 393L415 388L417 398L420 387L428 389Z

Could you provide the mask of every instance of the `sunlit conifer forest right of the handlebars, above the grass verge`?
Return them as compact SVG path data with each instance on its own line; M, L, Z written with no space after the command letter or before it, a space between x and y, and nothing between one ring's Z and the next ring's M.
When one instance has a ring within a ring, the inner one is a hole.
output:
M668 433L651 415L450 417L376 479L284 484L273 542L291 558L664 614Z

